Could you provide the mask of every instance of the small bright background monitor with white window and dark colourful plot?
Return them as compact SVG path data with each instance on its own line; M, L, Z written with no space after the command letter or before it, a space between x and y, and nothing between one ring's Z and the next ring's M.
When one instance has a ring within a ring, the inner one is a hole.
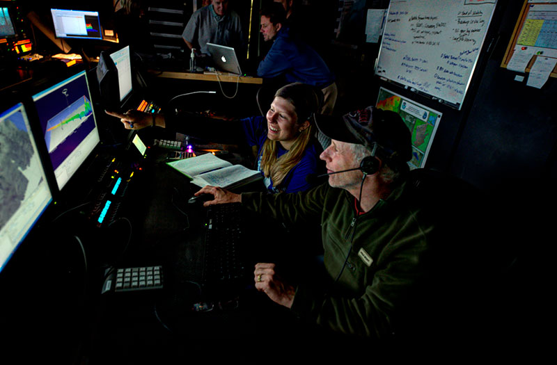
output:
M102 39L97 11L50 9L58 38Z

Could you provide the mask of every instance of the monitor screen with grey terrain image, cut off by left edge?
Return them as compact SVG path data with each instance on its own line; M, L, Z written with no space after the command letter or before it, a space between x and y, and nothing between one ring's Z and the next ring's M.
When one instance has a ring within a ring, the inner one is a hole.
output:
M52 202L22 104L0 112L0 271Z

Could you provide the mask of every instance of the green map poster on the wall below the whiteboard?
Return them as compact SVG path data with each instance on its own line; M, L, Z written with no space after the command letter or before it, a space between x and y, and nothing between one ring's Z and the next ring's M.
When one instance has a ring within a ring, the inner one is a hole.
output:
M385 88L379 88L376 106L402 117L412 136L410 168L423 168L442 114Z

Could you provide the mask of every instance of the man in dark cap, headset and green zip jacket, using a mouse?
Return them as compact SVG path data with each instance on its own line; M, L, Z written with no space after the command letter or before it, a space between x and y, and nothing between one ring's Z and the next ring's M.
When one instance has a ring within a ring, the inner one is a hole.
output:
M410 131L398 114L371 106L317 117L317 127L331 138L320 156L327 184L276 196L212 187L201 193L215 195L211 203L242 202L285 222L320 225L324 277L292 284L274 263L258 263L256 289L329 330L389 339L405 324L411 295L427 278L424 259L434 232L408 192Z

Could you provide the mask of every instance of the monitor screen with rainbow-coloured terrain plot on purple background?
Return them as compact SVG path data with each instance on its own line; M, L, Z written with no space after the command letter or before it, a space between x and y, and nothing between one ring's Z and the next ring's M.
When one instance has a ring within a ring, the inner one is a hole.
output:
M100 143L85 71L33 95L58 189Z

